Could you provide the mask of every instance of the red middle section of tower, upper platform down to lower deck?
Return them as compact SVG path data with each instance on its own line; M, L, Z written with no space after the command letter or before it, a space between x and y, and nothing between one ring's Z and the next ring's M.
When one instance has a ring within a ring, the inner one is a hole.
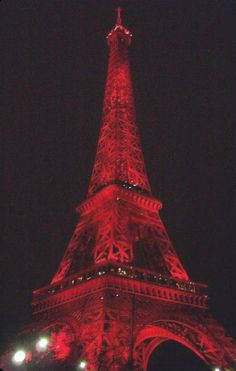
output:
M108 261L141 265L188 280L158 214L160 205L118 185L90 197L78 208L80 220L52 283L79 271L80 261L83 268Z

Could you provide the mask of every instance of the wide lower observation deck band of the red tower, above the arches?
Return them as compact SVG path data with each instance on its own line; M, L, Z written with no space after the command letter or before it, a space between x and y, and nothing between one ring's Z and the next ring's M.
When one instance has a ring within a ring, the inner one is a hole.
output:
M100 264L81 271L54 285L33 292L33 313L78 300L94 292L112 289L123 293L176 302L207 309L207 285L177 280L142 268L121 264Z

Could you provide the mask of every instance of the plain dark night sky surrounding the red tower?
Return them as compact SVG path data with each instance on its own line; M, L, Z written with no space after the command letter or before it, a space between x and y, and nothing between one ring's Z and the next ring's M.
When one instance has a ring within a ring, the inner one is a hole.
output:
M116 1L2 0L1 342L49 282L87 192ZM153 194L192 280L236 337L235 2L120 1ZM234 70L235 71L235 70Z

